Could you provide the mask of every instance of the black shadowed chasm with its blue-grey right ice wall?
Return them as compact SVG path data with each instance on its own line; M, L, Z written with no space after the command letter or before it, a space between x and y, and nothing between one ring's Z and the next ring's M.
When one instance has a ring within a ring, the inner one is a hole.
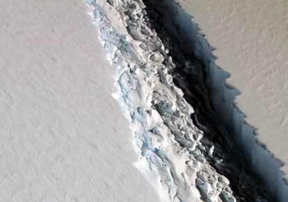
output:
M282 163L257 142L255 128L243 121L245 115L233 103L240 92L225 84L229 74L214 64L214 49L193 17L173 0L143 3L147 24L176 64L170 71L173 82L195 110L191 119L205 133L203 140L209 140L202 143L211 146L212 142L214 155L223 159L209 158L210 164L230 180L237 201L287 201Z

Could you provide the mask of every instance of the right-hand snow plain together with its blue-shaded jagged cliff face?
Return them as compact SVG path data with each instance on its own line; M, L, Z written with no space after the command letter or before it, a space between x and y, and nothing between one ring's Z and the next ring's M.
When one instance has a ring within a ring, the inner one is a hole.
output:
M218 115L236 133L234 139L250 166L270 185L270 192L287 201L288 189L282 178L288 174L288 1L177 3L205 35L197 33L195 26L191 38L198 42L195 48L209 68L208 83ZM177 20L185 24L187 15L179 13ZM182 28L193 32L190 25ZM272 155L255 144L255 138Z

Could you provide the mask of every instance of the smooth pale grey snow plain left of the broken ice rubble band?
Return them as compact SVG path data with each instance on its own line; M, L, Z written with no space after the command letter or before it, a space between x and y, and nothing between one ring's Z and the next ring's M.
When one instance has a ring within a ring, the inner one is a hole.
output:
M84 1L0 5L0 201L158 201Z

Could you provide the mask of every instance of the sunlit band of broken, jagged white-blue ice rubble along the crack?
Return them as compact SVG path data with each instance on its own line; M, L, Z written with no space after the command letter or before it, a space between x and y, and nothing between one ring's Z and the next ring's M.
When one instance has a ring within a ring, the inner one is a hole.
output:
M114 96L134 133L139 154L136 167L158 190L161 201L247 201L245 195L232 192L230 181L218 172L220 167L236 174L221 144L203 136L209 128L198 123L200 117L173 83L170 72L179 62L167 44L174 39L168 35L166 41L160 39L141 0L86 3L107 58L118 74ZM189 61L184 64L193 68ZM248 178L243 171L239 174ZM264 201L253 194L255 201Z

